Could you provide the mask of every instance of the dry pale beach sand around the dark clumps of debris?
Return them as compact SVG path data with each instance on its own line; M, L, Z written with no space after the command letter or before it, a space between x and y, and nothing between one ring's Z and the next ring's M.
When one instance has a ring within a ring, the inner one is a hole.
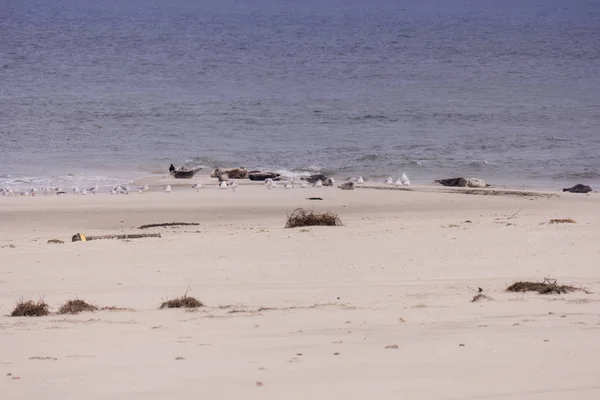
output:
M600 197L416 189L0 198L2 398L600 398ZM587 292L505 292L544 277ZM188 286L205 308L157 309ZM7 316L39 296L132 310Z

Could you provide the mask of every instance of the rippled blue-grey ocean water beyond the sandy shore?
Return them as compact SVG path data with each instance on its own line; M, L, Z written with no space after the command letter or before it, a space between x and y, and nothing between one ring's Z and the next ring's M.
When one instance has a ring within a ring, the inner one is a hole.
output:
M0 0L0 187L171 163L600 187L600 1Z

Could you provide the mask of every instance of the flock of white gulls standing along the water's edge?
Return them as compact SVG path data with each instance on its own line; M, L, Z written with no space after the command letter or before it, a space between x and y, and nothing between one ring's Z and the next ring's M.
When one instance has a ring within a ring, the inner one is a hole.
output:
M331 181L330 183L332 185L335 183L333 178L330 178L328 181ZM358 179L356 179L354 182L358 183L358 184L365 183L362 176L359 177ZM406 176L406 173L404 173L404 172L402 173L402 176L400 176L400 178L398 178L396 181L394 181L394 179L392 177L389 177L385 180L384 183L388 184L388 185L396 185L396 186L410 185L408 176ZM294 179L287 181L287 182L275 182L273 179L267 178L267 179L265 179L265 186L269 190L280 188L280 187L283 187L284 189L294 189L296 187L296 182ZM322 187L323 181L321 181L319 179L315 183L313 183L312 186L313 187ZM221 182L221 183L219 183L218 187L219 187L219 189L231 189L231 190L235 191L238 187L238 183L236 181ZM307 187L308 187L308 183L306 181L302 181L300 183L300 188L307 188ZM195 189L196 191L200 191L200 189L202 188L202 184L201 183L193 184L192 188ZM137 192L140 194L144 194L144 193L148 192L148 189L149 189L148 185L137 187ZM88 194L92 194L95 196L99 192L99 190L100 190L100 188L98 185L94 185L93 187L88 188L88 189L80 189L79 187L74 187L74 188L72 188L72 193L74 196L86 196ZM112 188L109 188L109 193L111 195L122 195L122 194L127 195L127 194L131 193L131 191L132 191L132 189L129 185L117 185L117 186L113 186ZM171 188L171 185L167 185L163 190L163 192L165 192L165 193L171 193L172 191L173 190ZM4 188L0 189L0 195L8 196L8 197L36 196L38 194L42 195L42 196L52 196L52 195L66 195L67 192L65 190L63 190L63 188L61 188L61 187L43 187L39 190L37 188L18 190L18 189L12 189L10 187L4 187Z

